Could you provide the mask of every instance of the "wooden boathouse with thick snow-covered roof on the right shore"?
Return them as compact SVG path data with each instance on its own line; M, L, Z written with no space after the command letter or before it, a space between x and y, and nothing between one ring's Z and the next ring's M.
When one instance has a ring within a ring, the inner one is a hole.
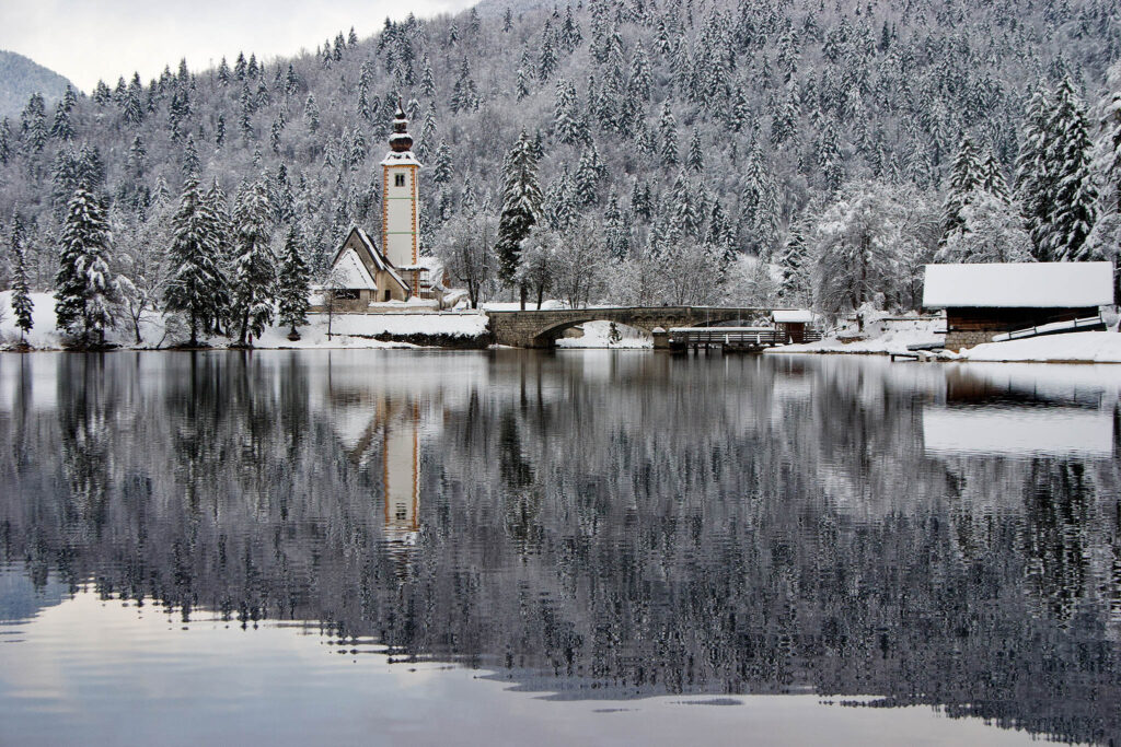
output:
M1111 262L927 264L923 306L946 311L946 349L1096 317L1113 304Z

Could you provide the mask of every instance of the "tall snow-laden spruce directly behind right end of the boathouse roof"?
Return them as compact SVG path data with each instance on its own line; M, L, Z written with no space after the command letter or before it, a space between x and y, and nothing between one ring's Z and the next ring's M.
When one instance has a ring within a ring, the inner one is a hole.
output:
M1055 92L1048 130L1051 141L1047 160L1055 187L1054 212L1045 240L1048 253L1059 261L1099 259L1090 255L1091 248L1086 245L1097 217L1090 122L1069 77Z

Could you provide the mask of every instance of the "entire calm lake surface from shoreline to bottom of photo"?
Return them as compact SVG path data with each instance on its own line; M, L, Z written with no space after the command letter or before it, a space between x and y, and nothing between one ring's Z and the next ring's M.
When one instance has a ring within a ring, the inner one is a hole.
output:
M1119 374L0 355L0 743L1117 740Z

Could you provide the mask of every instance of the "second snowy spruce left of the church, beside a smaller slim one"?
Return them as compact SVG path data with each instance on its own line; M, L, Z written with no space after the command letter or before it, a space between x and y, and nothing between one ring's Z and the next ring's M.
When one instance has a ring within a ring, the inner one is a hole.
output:
M242 187L233 211L233 321L238 327L238 344L248 345L249 336L261 336L272 321L272 299L276 296L276 255L269 249L268 187L263 178ZM231 330L232 332L232 330Z

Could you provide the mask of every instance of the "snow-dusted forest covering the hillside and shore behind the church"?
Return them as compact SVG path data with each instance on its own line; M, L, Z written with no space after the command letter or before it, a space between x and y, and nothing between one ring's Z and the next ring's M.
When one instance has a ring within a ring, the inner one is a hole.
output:
M378 230L400 100L423 244L481 298L912 308L935 259L1117 258L1119 58L1108 0L488 3L231 50L0 123L0 287L102 262L86 333L170 310L243 337L284 276L260 252L314 282Z

